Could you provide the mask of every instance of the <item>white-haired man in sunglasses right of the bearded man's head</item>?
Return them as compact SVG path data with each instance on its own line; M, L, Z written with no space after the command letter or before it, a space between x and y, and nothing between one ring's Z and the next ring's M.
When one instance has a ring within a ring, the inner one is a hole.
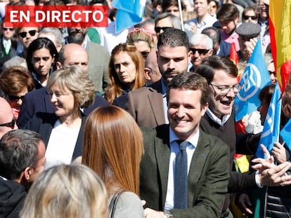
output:
M192 51L190 71L194 71L205 57L213 54L213 41L206 34L194 34L190 37L190 51Z

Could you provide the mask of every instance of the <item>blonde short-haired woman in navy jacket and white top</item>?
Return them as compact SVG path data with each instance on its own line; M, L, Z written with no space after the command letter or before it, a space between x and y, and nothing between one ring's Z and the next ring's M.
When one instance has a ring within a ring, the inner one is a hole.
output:
M46 168L69 164L82 156L83 108L95 99L88 73L79 66L61 68L48 78L48 93L55 113L38 112L25 128L38 132L46 144Z

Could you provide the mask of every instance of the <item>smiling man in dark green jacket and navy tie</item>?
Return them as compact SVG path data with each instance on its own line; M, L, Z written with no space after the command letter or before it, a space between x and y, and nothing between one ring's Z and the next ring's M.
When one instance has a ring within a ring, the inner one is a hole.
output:
M145 217L219 217L227 191L229 148L200 129L207 100L205 78L178 74L167 88L169 125L143 128L140 195L146 201ZM180 150L179 140L188 142L186 150ZM185 189L179 190L181 152L186 156L186 181Z

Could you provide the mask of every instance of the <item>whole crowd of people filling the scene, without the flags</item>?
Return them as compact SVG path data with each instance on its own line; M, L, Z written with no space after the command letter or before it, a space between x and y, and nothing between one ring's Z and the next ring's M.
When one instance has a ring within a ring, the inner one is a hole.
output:
M111 3L0 4L0 217L290 217L291 145L259 144L277 83L269 1L148 0L121 32ZM81 4L108 6L108 27L6 27L1 10ZM270 80L236 122L258 42Z

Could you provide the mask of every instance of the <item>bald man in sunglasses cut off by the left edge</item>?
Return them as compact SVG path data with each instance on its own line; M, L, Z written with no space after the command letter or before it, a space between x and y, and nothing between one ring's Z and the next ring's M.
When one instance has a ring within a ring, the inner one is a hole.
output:
M17 130L18 126L15 123L15 118L12 113L10 104L0 97L0 139L2 135L11 130Z

